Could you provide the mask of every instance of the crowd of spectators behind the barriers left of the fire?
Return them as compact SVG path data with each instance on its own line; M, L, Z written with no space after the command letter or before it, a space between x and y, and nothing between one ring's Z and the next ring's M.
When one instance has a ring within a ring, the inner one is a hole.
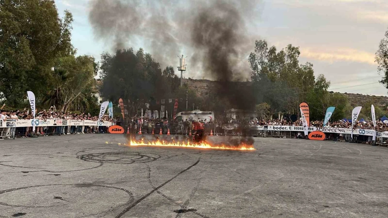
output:
M1 110L0 119L2 121L7 121L7 119L19 120L19 119L33 119L33 112L29 109L24 108L23 110L15 111L6 111ZM64 112L57 111L55 106L50 107L50 109L37 109L35 114L35 119L39 121L48 121L48 120L92 120L97 121L98 116L92 116L90 113L76 113L76 112ZM101 118L101 121L114 121L116 119L109 118L108 115L104 115ZM85 133L104 133L104 128L102 126L36 126L35 132L32 131L32 127L8 127L0 129L0 140L4 138L15 139L16 135L21 136L22 138L31 137L33 135L70 135L70 134L85 134Z

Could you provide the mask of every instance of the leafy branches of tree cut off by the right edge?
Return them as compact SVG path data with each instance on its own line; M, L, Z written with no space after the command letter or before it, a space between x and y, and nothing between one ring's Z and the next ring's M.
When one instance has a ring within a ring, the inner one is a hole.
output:
M388 88L388 30L385 32L385 37L380 41L375 60L378 64L378 72L384 74L380 83Z

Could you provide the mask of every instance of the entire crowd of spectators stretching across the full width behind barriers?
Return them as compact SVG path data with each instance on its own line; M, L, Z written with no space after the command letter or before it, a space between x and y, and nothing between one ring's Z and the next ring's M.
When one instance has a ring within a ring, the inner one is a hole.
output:
M3 105L4 107L4 105ZM6 121L7 119L33 119L33 113L28 109L16 110L16 111L3 111L3 107L0 107L1 115L0 119ZM55 106L50 107L50 109L37 110L35 119L40 121L48 120L92 120L97 121L98 116L92 116L87 113L77 113L77 112L64 112L57 111ZM121 119L110 118L108 115L104 115L102 121L111 121L116 125L123 126L125 130L130 130L132 133L151 134L154 132L158 134L162 132L163 134L171 133L175 134L189 134L192 130L192 125L190 120L181 120L173 121L172 119L164 118L146 118L140 116L134 116L130 119ZM216 122L208 121L206 119L199 120L200 123L204 125L205 133L210 134L210 130L213 129L214 133L222 133L226 130L222 130L223 125L249 125L249 126L264 126L264 125L274 125L274 126L302 126L301 120L291 121L290 119L239 119L239 118L219 118ZM323 126L322 120L310 121L310 126L314 127L333 127L333 128L352 128L352 123L349 120L343 119L333 122L328 122ZM388 131L388 122L378 120L376 126L373 125L372 121L358 121L354 126L354 129L375 129L377 131ZM219 131L218 131L219 130ZM70 135L70 134L88 134L88 133L104 133L106 128L102 126L36 126L35 132L32 132L32 127L10 127L10 128L1 128L0 129L0 140L3 138L14 139L16 136L21 137L30 137L33 135ZM226 134L226 133L225 133Z

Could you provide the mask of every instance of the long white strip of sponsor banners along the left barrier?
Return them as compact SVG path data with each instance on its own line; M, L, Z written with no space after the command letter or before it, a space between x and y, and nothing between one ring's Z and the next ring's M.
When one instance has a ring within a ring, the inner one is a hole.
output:
M93 120L73 120L73 119L9 119L0 127L30 127L30 126L112 126L109 121L97 122Z

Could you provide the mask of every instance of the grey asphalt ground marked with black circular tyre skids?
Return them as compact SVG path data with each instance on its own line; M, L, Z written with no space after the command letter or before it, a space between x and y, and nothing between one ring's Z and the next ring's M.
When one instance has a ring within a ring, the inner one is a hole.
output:
M125 142L110 134L0 141L0 217L388 216L386 147L285 138L255 138L255 151L117 144Z

